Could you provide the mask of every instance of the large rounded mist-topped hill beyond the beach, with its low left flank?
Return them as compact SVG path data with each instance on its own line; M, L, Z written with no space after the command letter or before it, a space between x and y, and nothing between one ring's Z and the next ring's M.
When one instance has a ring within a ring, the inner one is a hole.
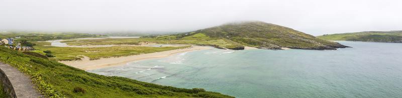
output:
M313 35L292 28L262 21L233 22L199 29L193 32L153 37L176 40L223 40L222 42L230 43L231 45L212 45L230 49L244 49L244 46L268 49L280 49L282 47L298 49L336 49L348 47L337 42L316 38Z

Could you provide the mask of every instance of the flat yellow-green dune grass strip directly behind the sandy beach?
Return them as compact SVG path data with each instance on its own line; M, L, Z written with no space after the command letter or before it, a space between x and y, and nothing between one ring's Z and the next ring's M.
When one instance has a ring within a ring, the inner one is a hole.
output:
M99 59L102 57L118 57L136 55L141 53L151 53L165 50L172 50L178 48L185 48L187 46L179 47L150 47L150 46L111 46L111 47L57 47L57 46L44 46L50 45L49 42L35 42L34 52L43 54L42 51L50 50L55 55L55 60L78 60L80 55L88 56L90 59Z

